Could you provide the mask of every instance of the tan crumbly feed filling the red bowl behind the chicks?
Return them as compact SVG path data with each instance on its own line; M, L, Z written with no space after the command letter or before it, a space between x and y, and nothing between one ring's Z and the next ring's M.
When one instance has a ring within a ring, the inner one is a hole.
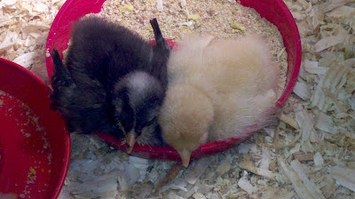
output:
M133 1L107 0L99 16L121 24L138 32L146 39L154 40L150 19L157 18L165 38L176 41L189 33L215 35L218 38L236 38L246 34L258 34L263 37L271 50L272 60L280 70L280 96L286 84L288 68L287 53L282 36L277 27L264 20L254 10L235 1ZM129 10L125 9L127 6Z

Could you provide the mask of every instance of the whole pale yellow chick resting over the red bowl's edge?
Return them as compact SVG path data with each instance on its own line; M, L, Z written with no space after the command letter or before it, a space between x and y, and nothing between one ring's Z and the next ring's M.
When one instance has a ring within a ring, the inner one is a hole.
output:
M270 51L258 36L214 41L187 36L168 62L168 91L159 123L162 139L186 167L206 141L246 137L268 123L279 79Z

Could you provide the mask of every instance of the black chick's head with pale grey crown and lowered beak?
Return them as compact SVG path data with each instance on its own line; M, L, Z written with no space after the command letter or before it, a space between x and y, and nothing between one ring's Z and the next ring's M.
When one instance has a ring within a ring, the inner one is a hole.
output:
M161 83L146 72L135 71L114 85L114 116L120 119L127 134L131 152L139 144L161 145L161 131L157 123L165 91Z

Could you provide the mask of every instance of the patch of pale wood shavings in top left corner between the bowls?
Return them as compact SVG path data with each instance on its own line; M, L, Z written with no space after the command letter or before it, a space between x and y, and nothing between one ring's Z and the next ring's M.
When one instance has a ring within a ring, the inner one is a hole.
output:
M31 69L49 83L44 46L51 22L64 0L0 2L0 57Z

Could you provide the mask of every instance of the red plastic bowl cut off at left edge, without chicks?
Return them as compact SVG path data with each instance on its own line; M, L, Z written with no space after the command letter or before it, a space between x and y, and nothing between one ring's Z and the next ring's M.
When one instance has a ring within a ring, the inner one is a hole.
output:
M51 89L0 58L0 90L0 198L57 198L67 176L70 136L49 108Z

